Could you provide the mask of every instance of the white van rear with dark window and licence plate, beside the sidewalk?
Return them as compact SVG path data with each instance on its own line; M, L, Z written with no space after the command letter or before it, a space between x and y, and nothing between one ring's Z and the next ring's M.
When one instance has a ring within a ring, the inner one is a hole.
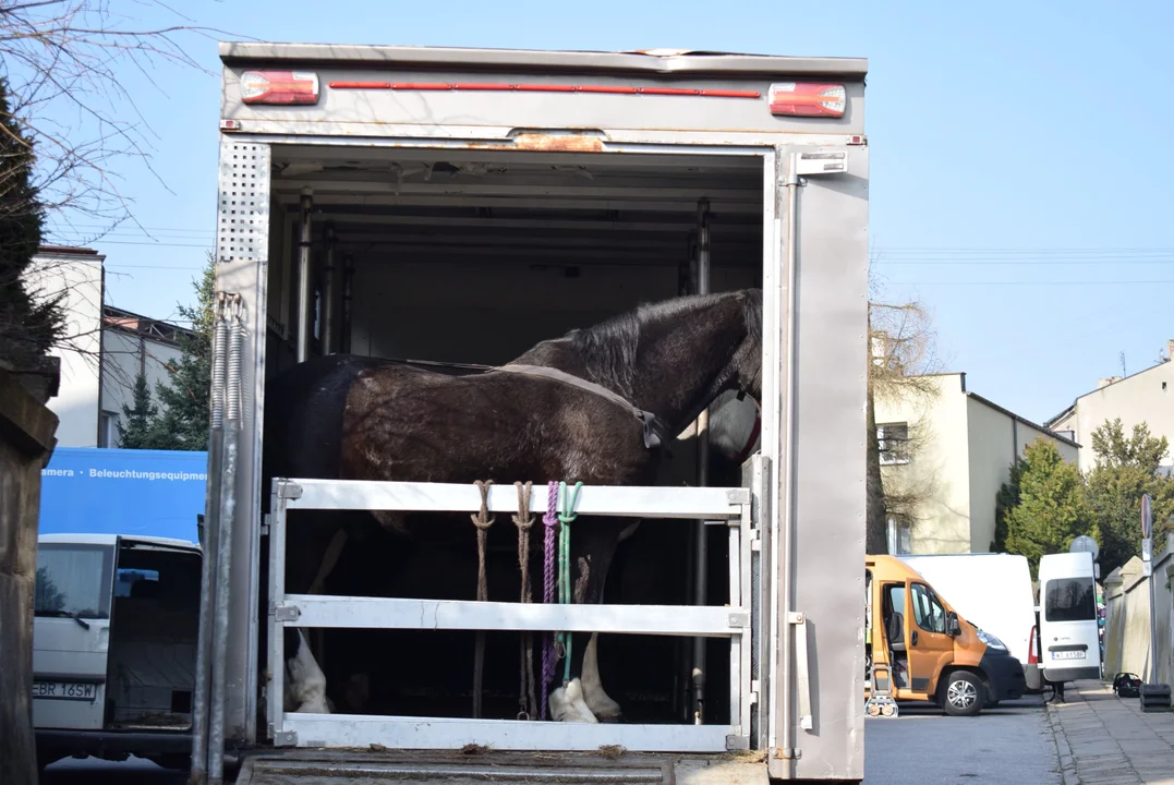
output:
M1100 678L1097 567L1091 553L1039 560L1039 666L1048 682Z

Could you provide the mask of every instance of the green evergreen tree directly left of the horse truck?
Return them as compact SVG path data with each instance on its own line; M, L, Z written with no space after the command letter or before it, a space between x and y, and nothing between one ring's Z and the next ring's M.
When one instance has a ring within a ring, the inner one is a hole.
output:
M193 336L180 338L183 354L168 366L169 379L155 386L162 405L158 418L160 449L208 449L209 393L211 391L212 324L216 318L216 265L211 253L200 279L194 307L178 306L191 323Z

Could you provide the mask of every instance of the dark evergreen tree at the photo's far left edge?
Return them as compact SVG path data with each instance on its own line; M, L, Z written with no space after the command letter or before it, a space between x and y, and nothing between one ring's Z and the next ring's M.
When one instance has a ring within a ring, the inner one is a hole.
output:
M65 292L36 298L25 276L41 245L45 216L31 180L33 142L9 114L8 83L4 79L0 124L0 360L19 367L45 356L62 337Z

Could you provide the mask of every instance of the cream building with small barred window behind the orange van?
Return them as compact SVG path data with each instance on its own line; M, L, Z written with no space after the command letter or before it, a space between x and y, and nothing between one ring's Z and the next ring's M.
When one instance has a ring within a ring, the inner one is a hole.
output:
M966 390L965 373L917 377L876 400L892 554L984 553L996 498L1037 439L1075 462L1073 439Z

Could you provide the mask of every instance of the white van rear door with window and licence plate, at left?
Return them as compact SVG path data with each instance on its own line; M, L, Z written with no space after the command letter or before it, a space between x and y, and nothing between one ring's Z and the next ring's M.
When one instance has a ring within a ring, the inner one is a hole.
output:
M33 627L33 725L101 730L114 544L41 542Z

